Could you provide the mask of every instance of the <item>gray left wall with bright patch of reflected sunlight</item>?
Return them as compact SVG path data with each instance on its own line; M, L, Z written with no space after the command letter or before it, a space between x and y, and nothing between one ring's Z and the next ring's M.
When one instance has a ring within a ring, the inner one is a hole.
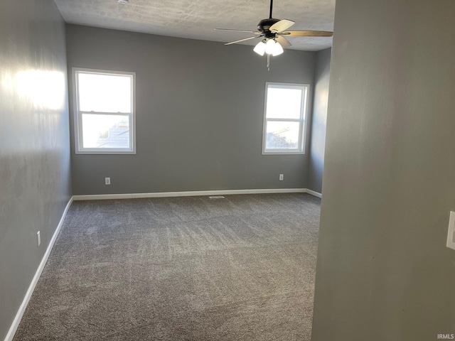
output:
M70 197L65 24L52 0L1 1L0 65L4 340Z

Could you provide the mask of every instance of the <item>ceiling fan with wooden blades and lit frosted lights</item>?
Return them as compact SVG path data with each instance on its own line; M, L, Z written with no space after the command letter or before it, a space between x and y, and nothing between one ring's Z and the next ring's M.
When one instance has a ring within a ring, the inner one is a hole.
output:
M257 31L244 31L235 30L232 28L215 28L220 31L234 31L234 32L247 32L254 33L255 36L243 38L239 40L225 43L225 45L231 45L240 43L245 40L262 38L259 43L253 48L255 53L258 55L264 55L267 53L267 61L270 55L281 55L283 48L289 48L291 43L286 37L331 37L333 32L328 31L286 31L289 27L294 25L294 21L288 19L275 19L272 18L273 0L270 0L270 14L269 18L262 19L257 24Z

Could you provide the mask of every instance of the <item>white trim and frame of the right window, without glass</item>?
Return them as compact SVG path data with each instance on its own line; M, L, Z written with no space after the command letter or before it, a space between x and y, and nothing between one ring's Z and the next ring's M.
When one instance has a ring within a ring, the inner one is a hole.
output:
M299 119L267 119L267 93L269 85L278 85L279 87L289 87L295 89L296 87L302 89L301 111ZM298 83L265 83L265 96L264 96L264 121L262 124L262 155L290 155L290 154L304 154L305 153L305 137L306 137L306 114L308 113L308 97L310 85ZM299 144L298 148L288 149L267 149L265 148L267 142L267 121L296 121L300 123L299 127Z

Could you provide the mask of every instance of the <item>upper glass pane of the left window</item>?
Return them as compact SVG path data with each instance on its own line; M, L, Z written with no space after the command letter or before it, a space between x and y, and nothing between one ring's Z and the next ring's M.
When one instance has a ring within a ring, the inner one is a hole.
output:
M78 73L79 109L82 112L132 111L132 77Z

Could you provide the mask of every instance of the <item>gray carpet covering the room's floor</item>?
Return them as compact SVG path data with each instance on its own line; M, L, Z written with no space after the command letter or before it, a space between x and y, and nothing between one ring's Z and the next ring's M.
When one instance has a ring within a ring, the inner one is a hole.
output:
M14 340L310 340L320 200L73 202Z

